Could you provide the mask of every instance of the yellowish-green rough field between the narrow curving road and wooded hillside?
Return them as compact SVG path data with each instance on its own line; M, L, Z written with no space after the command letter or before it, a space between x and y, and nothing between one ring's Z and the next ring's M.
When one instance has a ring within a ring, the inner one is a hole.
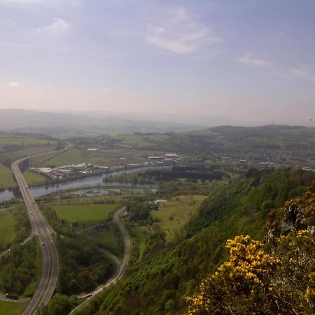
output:
M153 218L160 221L158 224L166 232L167 241L172 241L176 232L183 228L206 198L200 195L172 197L161 203L158 211L151 212Z

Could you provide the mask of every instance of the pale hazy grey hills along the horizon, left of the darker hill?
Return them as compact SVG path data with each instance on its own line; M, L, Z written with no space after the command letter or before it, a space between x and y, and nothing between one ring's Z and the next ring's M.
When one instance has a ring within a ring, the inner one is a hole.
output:
M85 137L132 132L181 132L221 125L257 126L224 116L184 113L110 113L102 111L0 109L0 132L37 132L55 137Z

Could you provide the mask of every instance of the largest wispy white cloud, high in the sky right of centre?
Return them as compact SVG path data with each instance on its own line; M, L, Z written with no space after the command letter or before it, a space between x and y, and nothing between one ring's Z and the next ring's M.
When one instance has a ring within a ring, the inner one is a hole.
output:
M203 27L190 17L183 8L169 11L167 19L157 25L148 25L147 29L148 43L176 54L194 52L203 45L222 41L209 27Z

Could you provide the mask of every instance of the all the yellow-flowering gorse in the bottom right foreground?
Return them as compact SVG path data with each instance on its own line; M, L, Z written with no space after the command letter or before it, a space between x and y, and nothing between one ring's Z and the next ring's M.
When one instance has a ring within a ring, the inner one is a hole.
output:
M249 236L228 240L230 259L187 297L188 314L315 313L314 193L286 203L293 206L309 230L293 228L279 238L269 236L267 244Z

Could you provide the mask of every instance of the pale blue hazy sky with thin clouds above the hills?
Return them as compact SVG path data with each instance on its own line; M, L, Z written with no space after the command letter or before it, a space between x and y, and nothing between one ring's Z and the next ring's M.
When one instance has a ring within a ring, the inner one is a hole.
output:
M0 108L315 120L314 0L0 0Z

